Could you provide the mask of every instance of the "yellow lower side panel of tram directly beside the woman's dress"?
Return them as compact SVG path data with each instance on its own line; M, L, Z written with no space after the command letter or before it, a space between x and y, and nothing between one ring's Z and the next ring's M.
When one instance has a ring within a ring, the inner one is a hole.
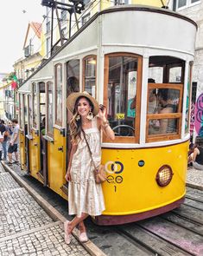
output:
M48 187L64 198L67 198L66 194L60 187L66 183L66 154L66 137L54 128L54 143L48 141Z

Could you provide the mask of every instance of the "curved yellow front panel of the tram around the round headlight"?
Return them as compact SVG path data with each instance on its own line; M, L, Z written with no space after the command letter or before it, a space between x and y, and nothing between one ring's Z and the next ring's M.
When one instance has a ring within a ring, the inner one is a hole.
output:
M103 149L108 175L103 185L103 214L143 213L181 199L186 193L187 148L188 142L162 148ZM168 186L160 187L155 177L166 164L172 167L173 178Z

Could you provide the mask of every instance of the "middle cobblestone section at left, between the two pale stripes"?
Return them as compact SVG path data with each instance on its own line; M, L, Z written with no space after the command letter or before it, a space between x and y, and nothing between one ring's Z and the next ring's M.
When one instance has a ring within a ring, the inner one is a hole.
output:
M53 222L24 188L0 193L0 239Z

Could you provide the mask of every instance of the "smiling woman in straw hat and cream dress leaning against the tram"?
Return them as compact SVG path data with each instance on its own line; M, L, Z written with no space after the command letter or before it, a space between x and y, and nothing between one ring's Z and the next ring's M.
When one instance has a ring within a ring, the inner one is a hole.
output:
M98 102L88 93L69 95L67 108L73 113L73 118L70 122L72 149L65 178L69 182L69 214L76 215L72 221L64 224L65 241L69 244L73 228L78 224L79 240L86 242L88 238L83 220L88 215L97 216L105 210L102 187L95 183L94 167L86 140L91 148L93 161L98 166L101 161L100 130L112 141L115 135L106 120L105 108L99 108Z

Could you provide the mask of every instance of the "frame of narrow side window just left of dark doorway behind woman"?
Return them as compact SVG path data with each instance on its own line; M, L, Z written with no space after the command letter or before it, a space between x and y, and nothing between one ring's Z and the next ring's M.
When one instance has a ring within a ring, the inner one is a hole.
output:
M57 69L58 67L60 67L60 89L61 89L61 104L58 103L58 75L57 75ZM62 110L63 109L63 66L61 63L57 63L54 66L54 75L55 75L55 79L54 79L54 109L55 109L55 118L54 118L54 122L56 125L62 127L62 119L63 119L63 115L62 115ZM57 109L60 109L60 118L57 115Z

